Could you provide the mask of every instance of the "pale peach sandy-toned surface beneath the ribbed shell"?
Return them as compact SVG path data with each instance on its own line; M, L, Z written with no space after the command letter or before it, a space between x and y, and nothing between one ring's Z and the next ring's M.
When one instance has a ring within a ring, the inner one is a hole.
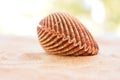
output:
M98 39L95 56L46 54L37 38L0 36L0 80L120 80L120 40Z

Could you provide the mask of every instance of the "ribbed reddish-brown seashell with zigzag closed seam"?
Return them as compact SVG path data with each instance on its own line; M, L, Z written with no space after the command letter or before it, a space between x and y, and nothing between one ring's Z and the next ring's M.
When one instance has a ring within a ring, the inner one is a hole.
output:
M53 13L37 27L40 44L49 54L95 55L99 47L86 27L67 13Z

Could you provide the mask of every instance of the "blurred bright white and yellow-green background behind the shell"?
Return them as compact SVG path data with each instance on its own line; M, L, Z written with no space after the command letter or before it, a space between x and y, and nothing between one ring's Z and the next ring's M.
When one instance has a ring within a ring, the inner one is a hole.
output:
M120 0L0 0L0 34L36 36L53 12L78 18L95 36L120 37Z

